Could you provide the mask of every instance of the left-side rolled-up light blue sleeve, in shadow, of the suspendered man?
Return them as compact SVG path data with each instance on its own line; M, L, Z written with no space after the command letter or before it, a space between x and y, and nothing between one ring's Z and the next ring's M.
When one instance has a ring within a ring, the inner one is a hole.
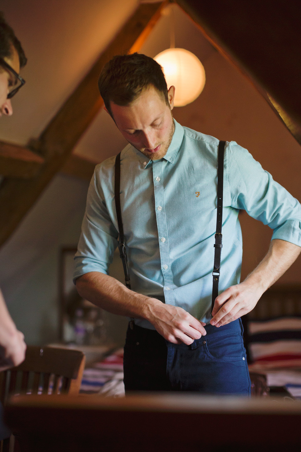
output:
M118 244L118 231L108 214L104 193L97 183L97 167L90 182L86 212L78 251L75 254L73 281L89 272L108 274L114 250Z

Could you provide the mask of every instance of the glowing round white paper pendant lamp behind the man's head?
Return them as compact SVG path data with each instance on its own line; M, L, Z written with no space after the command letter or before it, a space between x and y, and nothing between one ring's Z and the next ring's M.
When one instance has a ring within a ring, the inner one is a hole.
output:
M205 70L199 58L185 49L170 48L158 53L154 60L165 75L167 88L176 87L175 107L193 102L203 91Z

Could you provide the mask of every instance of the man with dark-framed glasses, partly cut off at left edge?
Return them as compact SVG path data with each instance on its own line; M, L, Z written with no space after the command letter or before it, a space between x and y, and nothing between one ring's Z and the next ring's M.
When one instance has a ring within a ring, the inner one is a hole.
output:
M0 116L13 114L10 99L24 84L19 70L26 61L19 40L0 13ZM22 363L25 349L24 336L14 325L0 292L0 371Z

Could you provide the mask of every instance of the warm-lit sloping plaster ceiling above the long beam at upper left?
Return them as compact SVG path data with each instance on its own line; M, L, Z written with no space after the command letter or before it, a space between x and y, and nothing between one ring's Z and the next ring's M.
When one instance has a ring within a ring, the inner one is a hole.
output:
M136 6L135 0L1 0L28 57L14 114L1 118L1 140L26 145L38 137Z

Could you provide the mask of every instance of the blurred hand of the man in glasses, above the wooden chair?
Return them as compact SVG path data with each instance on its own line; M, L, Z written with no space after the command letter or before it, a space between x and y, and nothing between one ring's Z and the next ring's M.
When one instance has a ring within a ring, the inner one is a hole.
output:
M13 334L5 334L0 345L0 372L9 367L19 366L25 358L24 334L17 329Z

